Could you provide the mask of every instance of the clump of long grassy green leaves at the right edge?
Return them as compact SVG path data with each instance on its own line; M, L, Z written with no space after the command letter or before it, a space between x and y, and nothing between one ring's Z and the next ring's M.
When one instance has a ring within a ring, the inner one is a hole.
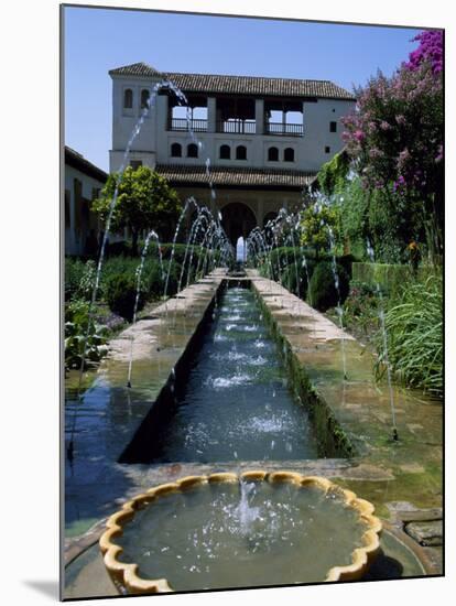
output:
M384 315L391 369L406 386L443 394L443 281L409 282ZM377 374L384 372L383 335L377 336Z

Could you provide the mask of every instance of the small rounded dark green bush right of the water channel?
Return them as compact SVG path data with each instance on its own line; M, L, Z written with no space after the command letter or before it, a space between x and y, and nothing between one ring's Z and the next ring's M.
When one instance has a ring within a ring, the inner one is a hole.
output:
M340 303L344 303L349 290L349 279L340 264L336 267L339 279ZM339 294L335 285L333 264L330 261L321 261L311 278L308 300L316 310L325 312L338 304L338 297Z

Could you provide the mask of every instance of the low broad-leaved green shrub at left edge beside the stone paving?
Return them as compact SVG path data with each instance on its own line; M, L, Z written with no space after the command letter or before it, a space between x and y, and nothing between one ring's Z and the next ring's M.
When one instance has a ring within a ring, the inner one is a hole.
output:
M65 367L80 368L85 342L85 367L88 361L99 361L108 353L106 340L108 329L94 320L88 328L89 304L86 301L72 301L65 309Z

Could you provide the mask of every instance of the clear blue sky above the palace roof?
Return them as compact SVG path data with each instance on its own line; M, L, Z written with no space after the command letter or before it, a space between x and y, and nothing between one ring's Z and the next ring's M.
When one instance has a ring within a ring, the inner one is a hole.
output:
M65 143L108 170L112 67L328 79L350 89L408 58L412 29L65 8Z

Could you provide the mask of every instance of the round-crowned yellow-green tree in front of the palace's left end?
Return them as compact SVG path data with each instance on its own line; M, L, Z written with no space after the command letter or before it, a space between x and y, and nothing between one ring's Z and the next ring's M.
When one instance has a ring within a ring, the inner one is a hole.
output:
M139 166L135 171L128 166L122 175L110 174L100 197L94 201L91 207L104 221L108 217L117 183L111 227L115 230L130 228L132 253L138 255L138 239L143 230L155 230L162 241L170 239L182 205L166 180L149 166Z

